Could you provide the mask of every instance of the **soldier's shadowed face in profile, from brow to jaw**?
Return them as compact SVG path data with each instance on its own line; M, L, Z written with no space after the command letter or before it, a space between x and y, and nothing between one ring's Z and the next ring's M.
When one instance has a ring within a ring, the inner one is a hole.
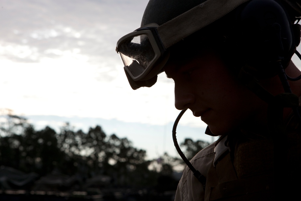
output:
M250 127L264 118L265 102L240 84L214 52L184 63L180 59L164 67L175 82L177 109L189 108L216 135Z

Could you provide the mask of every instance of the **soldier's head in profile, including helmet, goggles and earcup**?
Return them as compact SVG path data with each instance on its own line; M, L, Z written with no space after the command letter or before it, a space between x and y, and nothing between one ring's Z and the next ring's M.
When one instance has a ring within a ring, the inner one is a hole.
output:
M274 0L150 0L141 28L117 42L133 89L165 71L175 82L175 107L189 108L216 135L264 118L267 103L240 77L273 79L296 48L287 8ZM264 120L262 120L264 121Z

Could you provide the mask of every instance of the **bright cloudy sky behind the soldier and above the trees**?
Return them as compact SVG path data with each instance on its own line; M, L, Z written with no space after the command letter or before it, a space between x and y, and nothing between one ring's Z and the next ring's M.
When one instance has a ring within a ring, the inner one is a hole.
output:
M100 125L107 135L145 149L149 158L177 155L173 81L162 73L153 87L132 90L115 52L118 39L140 27L147 3L1 0L0 108L28 118L37 129L59 130L65 122L82 130ZM205 128L187 111L178 141L211 142Z

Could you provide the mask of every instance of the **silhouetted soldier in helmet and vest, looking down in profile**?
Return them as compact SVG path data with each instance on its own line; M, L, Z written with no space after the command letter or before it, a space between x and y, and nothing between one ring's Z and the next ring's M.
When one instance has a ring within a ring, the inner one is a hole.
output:
M291 57L300 16L289 0L150 0L141 28L119 39L134 90L164 71L175 107L220 136L191 160L200 174L185 168L175 200L298 195L301 72Z

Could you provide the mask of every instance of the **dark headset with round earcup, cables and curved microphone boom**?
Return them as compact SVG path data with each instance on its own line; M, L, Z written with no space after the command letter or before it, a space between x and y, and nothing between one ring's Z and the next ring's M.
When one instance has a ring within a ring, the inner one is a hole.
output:
M279 132L278 123L281 123L279 119L282 119L281 114L283 114L284 107L293 108L295 116L301 123L297 109L299 98L292 93L288 83L288 80L300 80L301 75L291 78L284 70L294 53L301 60L300 53L296 51L296 47L300 43L300 25L297 24L300 19L296 24L291 24L292 20L287 14L288 11L281 2L276 0L251 0L237 7L234 12L235 26L238 27L235 30L237 33L234 34L236 38L233 40L230 38L227 44L231 46L230 49L238 49L239 52L234 50L234 54L242 58L240 61L244 61L239 72L240 80L269 104L268 118L270 121L268 124L270 127L276 126L273 131ZM285 91L280 97L270 94L258 81L276 75L279 76ZM172 137L179 155L205 189L206 178L188 161L176 139L176 127L186 110L182 110L176 118ZM272 112L274 110L276 114ZM281 132L278 134L282 135ZM278 139L275 143L281 142Z

